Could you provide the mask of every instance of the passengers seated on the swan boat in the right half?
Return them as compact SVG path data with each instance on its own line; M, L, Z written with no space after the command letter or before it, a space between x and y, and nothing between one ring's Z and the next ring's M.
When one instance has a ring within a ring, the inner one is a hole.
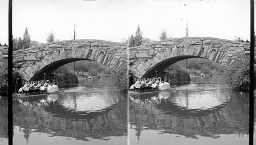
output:
M159 79L158 78L140 78L135 79L135 83L131 85L130 91L141 91L144 89L157 89L157 86L159 85Z

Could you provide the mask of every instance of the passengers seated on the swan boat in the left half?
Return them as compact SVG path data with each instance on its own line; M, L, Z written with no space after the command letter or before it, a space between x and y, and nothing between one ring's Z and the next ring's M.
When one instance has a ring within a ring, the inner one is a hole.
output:
M52 84L56 84L53 80ZM29 92L46 92L48 83L45 80L40 81L23 81L23 86L18 90L18 94L29 94Z

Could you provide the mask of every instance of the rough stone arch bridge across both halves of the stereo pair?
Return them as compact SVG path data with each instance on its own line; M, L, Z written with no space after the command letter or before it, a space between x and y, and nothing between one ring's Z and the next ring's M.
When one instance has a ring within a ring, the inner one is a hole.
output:
M23 79L33 80L67 63L92 60L113 70L129 64L135 76L152 77L156 70L193 57L229 67L245 57L249 48L249 43L206 37L174 38L137 47L103 40L68 40L13 51L13 67ZM1 57L6 58L6 52L0 50Z

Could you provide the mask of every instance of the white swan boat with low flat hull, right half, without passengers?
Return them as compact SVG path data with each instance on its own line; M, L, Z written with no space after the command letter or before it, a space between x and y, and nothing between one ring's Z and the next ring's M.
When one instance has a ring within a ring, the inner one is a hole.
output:
M167 91L167 90L176 90L177 85L170 86L170 84L168 82L162 82L160 77L158 79L160 79L160 82L159 82L158 86L156 86L156 88L154 88L154 90L150 89L150 90L145 90L145 91L140 91L140 92L129 91L128 93L129 94L142 94L142 93L161 92L161 91Z

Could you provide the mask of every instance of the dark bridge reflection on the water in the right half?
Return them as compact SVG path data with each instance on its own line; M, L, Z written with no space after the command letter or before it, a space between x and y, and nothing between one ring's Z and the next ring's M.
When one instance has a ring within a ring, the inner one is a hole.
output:
M228 95L230 100L223 106L194 113L190 111L196 110L177 106L168 99L154 103L153 95L135 96L130 101L130 122L191 138L197 138L196 135L217 138L220 137L218 134L248 134L248 94L229 92Z

